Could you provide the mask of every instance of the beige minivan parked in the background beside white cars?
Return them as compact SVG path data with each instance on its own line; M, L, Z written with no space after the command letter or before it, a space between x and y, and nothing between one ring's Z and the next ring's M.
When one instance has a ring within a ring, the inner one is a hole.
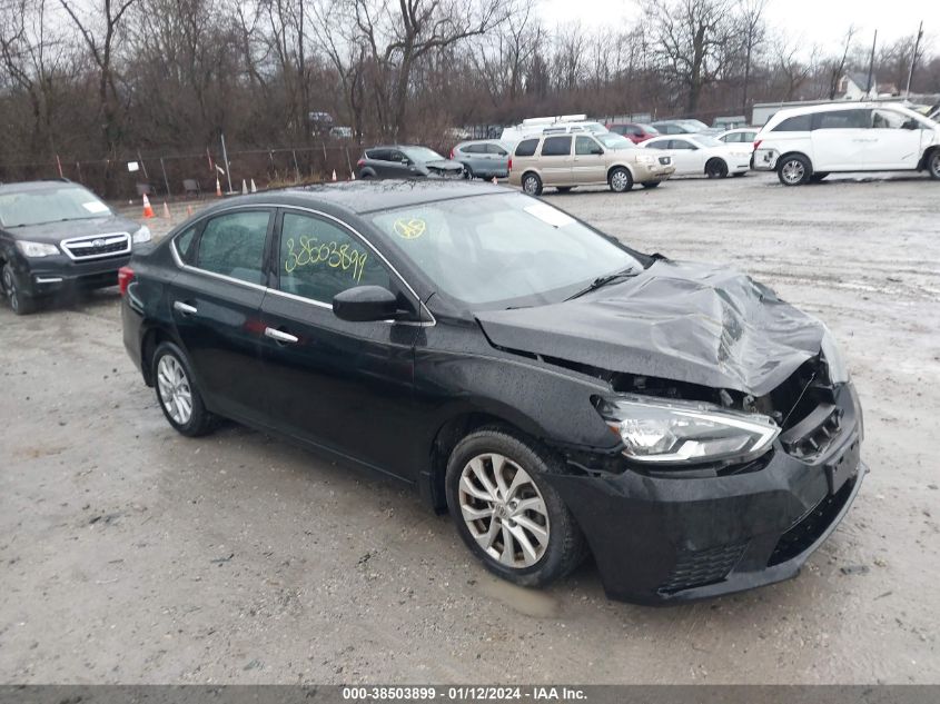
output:
M620 135L544 135L522 140L509 160L509 184L531 196L545 187L567 192L606 184L622 194L641 184L655 188L675 168L669 155L643 151Z

